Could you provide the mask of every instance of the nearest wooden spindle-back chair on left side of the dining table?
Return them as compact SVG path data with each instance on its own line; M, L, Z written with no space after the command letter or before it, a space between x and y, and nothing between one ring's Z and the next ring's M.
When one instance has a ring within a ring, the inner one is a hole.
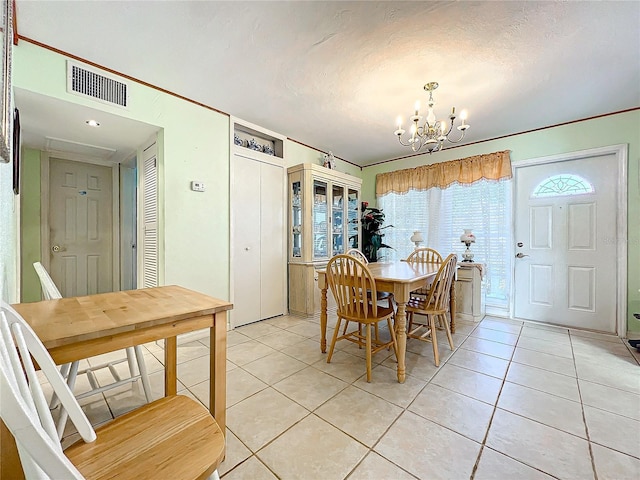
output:
M378 302L370 301L376 298L377 289L373 275L367 264L352 255L336 255L329 260L326 268L327 283L336 300L338 322L336 323L333 339L327 356L327 363L331 363L333 350L340 340L348 340L359 347L366 348L367 382L371 382L371 357L378 351L393 346L396 358L398 344L391 319L394 311L391 307L382 307ZM340 334L342 321L357 322L358 329ZM391 340L381 341L376 335L372 337L371 326L386 321ZM364 329L364 334L362 330Z

